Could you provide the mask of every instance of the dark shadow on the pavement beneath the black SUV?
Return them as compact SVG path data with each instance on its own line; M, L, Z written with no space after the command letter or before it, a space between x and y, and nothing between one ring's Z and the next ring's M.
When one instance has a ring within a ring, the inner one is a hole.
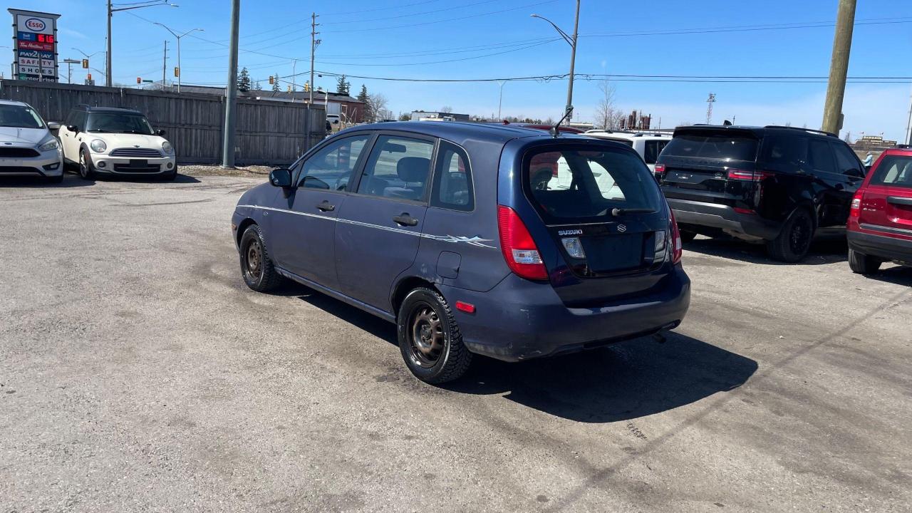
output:
M713 257L731 258L764 266L819 266L845 262L848 246L845 235L817 236L811 243L807 257L797 264L777 262L766 254L766 246L751 244L735 238L698 237L684 245L684 249Z

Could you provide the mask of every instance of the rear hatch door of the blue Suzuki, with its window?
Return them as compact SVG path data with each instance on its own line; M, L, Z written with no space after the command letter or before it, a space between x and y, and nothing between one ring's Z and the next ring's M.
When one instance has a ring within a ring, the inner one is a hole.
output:
M523 168L523 193L560 255L549 275L566 304L643 295L668 275L668 209L636 152L541 147Z

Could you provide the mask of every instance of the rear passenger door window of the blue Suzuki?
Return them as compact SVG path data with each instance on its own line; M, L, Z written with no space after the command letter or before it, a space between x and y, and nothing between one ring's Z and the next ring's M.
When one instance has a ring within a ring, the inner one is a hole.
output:
M433 152L430 141L379 136L358 183L358 194L423 201Z

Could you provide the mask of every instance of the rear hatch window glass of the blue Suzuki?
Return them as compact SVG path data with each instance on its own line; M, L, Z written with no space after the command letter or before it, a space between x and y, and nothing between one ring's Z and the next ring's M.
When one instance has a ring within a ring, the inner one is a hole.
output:
M546 222L602 218L613 208L661 207L656 181L634 152L540 149L525 162L523 189Z

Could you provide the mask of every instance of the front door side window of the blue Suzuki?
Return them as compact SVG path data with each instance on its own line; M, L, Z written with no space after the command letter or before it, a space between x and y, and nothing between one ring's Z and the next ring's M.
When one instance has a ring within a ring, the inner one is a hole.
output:
M298 187L347 191L351 172L369 139L369 135L355 135L326 144L304 161Z

